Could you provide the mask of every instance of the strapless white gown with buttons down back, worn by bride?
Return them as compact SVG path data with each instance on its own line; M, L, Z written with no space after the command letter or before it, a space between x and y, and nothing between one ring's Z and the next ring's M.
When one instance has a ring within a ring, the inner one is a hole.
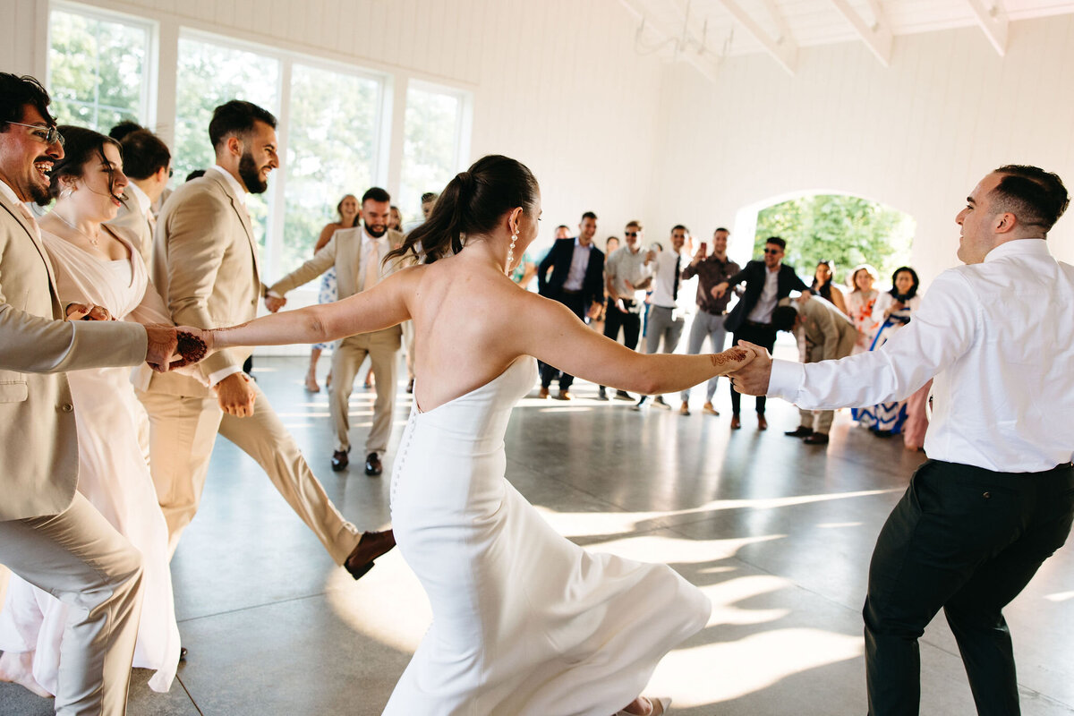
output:
M429 412L417 405L392 473L392 525L433 624L391 716L611 716L700 630L709 600L666 565L592 554L505 479L522 357Z

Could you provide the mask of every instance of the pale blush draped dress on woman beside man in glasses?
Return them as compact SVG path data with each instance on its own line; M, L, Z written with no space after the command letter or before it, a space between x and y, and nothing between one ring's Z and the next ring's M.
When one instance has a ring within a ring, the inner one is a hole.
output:
M143 323L171 324L145 263L129 240L122 238L129 261L107 261L48 232L42 234L61 302L104 306L117 319L130 315ZM179 630L168 565L168 525L139 442L147 418L134 395L130 368L73 370L67 378L78 430L78 492L142 553L142 617L134 666L156 670L149 688L168 691L179 659ZM0 611L0 651L34 652L33 677L50 693L56 693L69 609L12 575Z

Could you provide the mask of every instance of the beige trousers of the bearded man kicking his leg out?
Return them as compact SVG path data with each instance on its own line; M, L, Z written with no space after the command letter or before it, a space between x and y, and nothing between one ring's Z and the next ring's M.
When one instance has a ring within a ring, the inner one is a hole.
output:
M198 512L219 433L257 461L332 559L342 565L361 535L336 510L268 398L257 383L253 386L258 396L248 418L224 414L216 398L139 391L149 413L149 466L168 522L170 554Z

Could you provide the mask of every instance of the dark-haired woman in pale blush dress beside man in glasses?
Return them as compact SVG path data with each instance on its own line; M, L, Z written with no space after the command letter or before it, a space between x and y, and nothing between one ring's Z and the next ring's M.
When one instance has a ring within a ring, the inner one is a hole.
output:
M70 304L68 320L171 324L132 237L102 224L115 218L127 185L119 144L78 127L59 130L67 144L66 157L52 174L56 205L40 225L59 298ZM74 370L67 377L78 428L78 492L142 552L134 666L155 670L149 688L168 691L179 659L179 630L168 527L137 438L145 413L134 396L130 368ZM0 612L0 649L6 660L0 671L20 674L19 683L37 693L56 693L68 609L13 576Z

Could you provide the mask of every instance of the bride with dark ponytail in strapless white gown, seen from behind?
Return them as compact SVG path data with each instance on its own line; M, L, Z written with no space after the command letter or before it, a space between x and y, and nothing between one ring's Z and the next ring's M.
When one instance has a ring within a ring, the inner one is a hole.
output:
M389 255L418 254L424 265L335 304L200 334L211 348L316 342L413 320L421 350L392 474L392 522L433 624L384 714L662 714L666 699L638 695L711 611L666 565L564 539L505 478L504 433L533 389L533 356L644 394L680 391L749 361L741 349L635 353L520 289L508 276L539 216L529 171L485 157L451 180L429 221Z

